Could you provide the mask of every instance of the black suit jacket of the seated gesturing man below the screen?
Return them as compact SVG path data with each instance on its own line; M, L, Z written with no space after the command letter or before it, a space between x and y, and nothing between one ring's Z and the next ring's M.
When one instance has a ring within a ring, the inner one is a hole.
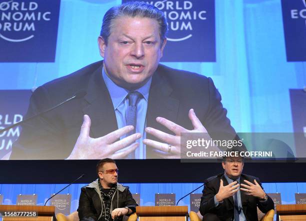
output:
M208 178L207 180L209 180ZM230 221L233 218L234 214L234 204L233 204L233 197L229 197L223 200L222 203L219 203L217 206L214 204L214 195L218 192L220 187L220 179L223 180L223 185L228 185L228 182L222 174L221 176L218 176L214 179L211 179L208 183L205 184L203 189L203 195L201 197L200 202L200 213L204 216L206 213L213 213L218 216L220 220L226 220ZM247 184L243 182L243 180L248 180L252 183L254 183L254 179L260 184L259 179L255 176L241 174L240 176L240 183ZM261 186L262 188L262 186ZM246 195L243 191L240 191L241 193L241 203L242 203L242 210L245 215L245 218L247 221L256 220L258 221L257 217L257 206L258 208L263 212L266 213L270 209L274 209L274 202L273 200L268 196L267 201L260 202L257 197Z

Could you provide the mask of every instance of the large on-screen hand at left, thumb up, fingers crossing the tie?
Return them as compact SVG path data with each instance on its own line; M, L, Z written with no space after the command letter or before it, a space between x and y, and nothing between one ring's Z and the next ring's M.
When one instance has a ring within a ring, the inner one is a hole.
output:
M133 130L133 126L124 126L105 136L92 138L89 136L90 124L89 116L84 115L79 136L67 159L124 158L139 145L135 141L141 137L140 133L134 133L116 141L122 135Z

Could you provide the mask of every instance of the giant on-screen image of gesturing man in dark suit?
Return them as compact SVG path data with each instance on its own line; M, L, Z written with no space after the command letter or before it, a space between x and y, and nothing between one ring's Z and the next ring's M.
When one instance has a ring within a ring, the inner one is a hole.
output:
M166 33L151 4L110 8L103 60L38 87L25 118L86 94L25 123L10 158L179 158L181 132L235 134L211 78L159 64Z

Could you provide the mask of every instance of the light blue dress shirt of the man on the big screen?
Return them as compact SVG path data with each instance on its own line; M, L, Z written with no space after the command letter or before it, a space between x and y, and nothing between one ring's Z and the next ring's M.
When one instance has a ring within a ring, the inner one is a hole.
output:
M102 68L102 77L110 94L118 128L126 126L125 110L128 107L128 99L126 98L126 95L129 91L115 84L107 76L104 71L104 68ZM140 92L143 96L143 98L141 98L137 103L136 132L141 133L142 136L136 141L139 142L139 146L135 150L136 159L145 159L145 145L142 143L142 140L146 137L144 128L146 126L146 109L151 81L152 77L150 77L149 80L142 87L135 90ZM121 136L120 139L124 137L125 135Z

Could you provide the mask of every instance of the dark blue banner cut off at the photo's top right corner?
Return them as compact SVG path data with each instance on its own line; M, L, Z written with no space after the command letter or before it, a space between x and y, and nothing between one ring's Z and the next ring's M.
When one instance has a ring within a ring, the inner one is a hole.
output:
M281 0L287 61L306 60L306 2Z

